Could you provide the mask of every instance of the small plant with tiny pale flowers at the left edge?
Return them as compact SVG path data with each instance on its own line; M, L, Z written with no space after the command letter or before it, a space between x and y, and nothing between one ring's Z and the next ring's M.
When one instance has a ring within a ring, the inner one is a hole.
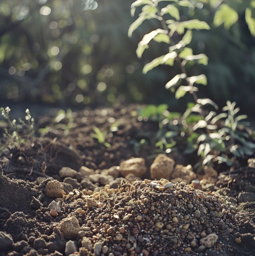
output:
M21 118L18 119L18 122L16 119L11 121L10 111L11 109L9 107L0 108L3 118L8 123L8 128L5 128L5 132L3 133L6 143L1 146L1 149L5 148L6 145L11 148L16 147L21 149L21 145L25 142L25 137L32 137L35 132L34 119L31 117L29 109L27 109L25 111L25 121Z

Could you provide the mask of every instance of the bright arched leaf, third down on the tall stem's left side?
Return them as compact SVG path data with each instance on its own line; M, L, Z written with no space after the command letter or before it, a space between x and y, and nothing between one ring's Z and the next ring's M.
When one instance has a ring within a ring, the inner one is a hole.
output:
M143 55L143 52L145 49L149 48L148 44L149 42L154 39L155 41L160 42L161 41L165 41L165 43L170 43L170 39L167 35L168 31L167 30L163 30L163 29L156 29L153 30L152 32L144 35L143 39L138 43L138 48L136 49L136 55L138 58L141 58ZM160 35L160 37L156 38L157 35ZM163 38L163 35L166 36L166 38Z

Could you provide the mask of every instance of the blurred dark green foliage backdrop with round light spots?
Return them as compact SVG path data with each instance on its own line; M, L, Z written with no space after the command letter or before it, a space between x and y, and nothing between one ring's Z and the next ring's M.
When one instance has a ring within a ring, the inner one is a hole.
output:
M33 114L49 107L167 103L169 110L183 111L188 95L176 101L165 90L178 67L142 73L144 64L165 54L168 45L152 42L137 58L138 42L160 24L146 21L128 38L137 18L137 13L130 15L132 2L97 0L97 6L93 0L1 0L1 107L30 107ZM191 64L188 73L206 74L208 85L200 87L200 97L220 107L226 100L236 101L243 113L254 116L255 38L245 23L243 1L225 1L239 14L229 29L213 24L217 1L200 2L199 8L183 9L181 15L210 25L211 30L195 31L191 43L194 54L205 53L209 64Z

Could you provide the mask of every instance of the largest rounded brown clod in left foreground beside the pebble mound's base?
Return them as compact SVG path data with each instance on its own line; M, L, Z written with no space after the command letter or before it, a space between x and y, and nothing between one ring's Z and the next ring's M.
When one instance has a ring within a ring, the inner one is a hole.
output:
M74 216L62 219L60 222L60 232L65 239L75 238L80 231L79 221Z

